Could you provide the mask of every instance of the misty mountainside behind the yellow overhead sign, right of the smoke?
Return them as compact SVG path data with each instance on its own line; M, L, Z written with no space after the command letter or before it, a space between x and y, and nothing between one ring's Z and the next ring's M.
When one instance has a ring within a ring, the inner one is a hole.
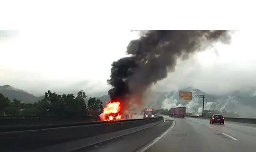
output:
M228 111L244 118L256 118L256 91L254 89L240 90L227 94L208 94L199 89L185 88L167 93L151 93L146 106L159 109L169 109L185 106L187 112L202 113L203 99L192 98L192 101L179 100L179 91L205 95L204 110ZM232 117L232 116L227 116Z

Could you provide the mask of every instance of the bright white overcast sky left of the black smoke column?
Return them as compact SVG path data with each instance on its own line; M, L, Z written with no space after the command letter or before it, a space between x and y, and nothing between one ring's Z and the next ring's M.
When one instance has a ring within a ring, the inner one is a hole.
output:
M138 37L131 30L19 30L16 38L0 43L0 85L36 95L49 89L107 94L112 62Z

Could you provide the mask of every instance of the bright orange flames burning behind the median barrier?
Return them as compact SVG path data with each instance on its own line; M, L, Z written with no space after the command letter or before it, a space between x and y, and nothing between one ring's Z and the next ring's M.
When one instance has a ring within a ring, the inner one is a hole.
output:
M106 103L103 113L100 114L101 121L115 121L120 120L122 114L120 113L121 106L119 101L109 101Z

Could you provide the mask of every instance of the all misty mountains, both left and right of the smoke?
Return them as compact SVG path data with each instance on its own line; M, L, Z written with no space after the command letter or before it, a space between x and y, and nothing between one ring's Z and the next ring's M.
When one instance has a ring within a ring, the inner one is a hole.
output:
M202 98L193 98L192 101L179 100L179 91L189 91L193 94L205 95L204 110L226 110L236 113L240 117L256 118L256 91L254 89L240 90L221 95L208 94L191 87L166 93L151 92L145 97L145 108L169 109L177 106L185 106L187 112L202 113ZM0 86L0 93L10 100L16 98L25 103L38 102L44 98L44 95L36 97L31 93L10 85ZM97 97L97 99L100 99L103 105L106 105L106 102L110 100L108 95Z

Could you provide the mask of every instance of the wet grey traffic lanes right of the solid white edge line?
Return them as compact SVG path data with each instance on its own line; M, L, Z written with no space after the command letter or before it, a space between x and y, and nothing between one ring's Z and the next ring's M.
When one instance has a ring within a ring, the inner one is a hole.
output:
M146 152L256 152L255 124L171 119L176 122L175 127Z

